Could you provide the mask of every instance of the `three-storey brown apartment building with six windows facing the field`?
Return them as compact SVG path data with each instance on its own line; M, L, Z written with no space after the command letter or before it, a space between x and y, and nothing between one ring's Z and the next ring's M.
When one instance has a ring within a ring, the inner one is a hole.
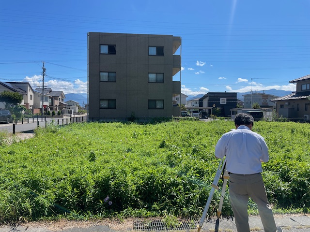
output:
M180 46L172 35L89 32L89 120L179 116L172 97L181 75L172 76L181 70Z

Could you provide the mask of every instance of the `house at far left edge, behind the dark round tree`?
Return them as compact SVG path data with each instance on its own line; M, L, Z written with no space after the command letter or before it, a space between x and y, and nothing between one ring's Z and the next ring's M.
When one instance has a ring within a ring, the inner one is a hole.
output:
M20 105L24 105L26 109L33 109L34 91L28 82L0 82L0 92L10 91L23 95L23 101ZM4 108L4 104L0 102L0 108Z

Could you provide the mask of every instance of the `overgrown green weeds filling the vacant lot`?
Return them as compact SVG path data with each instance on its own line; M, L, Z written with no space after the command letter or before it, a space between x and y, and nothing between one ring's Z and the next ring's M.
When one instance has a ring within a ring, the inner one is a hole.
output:
M39 128L0 147L0 222L42 218L199 218L232 121L83 123ZM256 122L270 161L263 177L277 212L310 210L310 124ZM209 215L217 210L216 192ZM255 204L249 210L256 214ZM222 210L232 215L229 195Z

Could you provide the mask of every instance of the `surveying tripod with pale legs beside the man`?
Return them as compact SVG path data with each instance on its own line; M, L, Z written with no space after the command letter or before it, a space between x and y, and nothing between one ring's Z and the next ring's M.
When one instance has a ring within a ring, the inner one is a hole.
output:
M225 190L226 190L226 185L227 185L227 180L229 178L228 172L226 170L226 159L221 159L221 161L219 162L218 168L217 168L217 173L215 175L215 178L213 180L213 183L211 185L211 191L207 200L207 203L204 207L203 213L202 213L202 218L200 220L199 225L197 225L198 228L198 232L200 232L200 230L202 229L203 226L203 222L205 220L205 217L207 216L210 204L211 204L211 200L213 198L214 195L214 191L215 189L218 189L218 181L221 178L221 174L223 173L224 170L224 174L223 174L223 187L222 187L222 192L221 192L221 197L219 200L219 204L218 204L218 209L217 209L217 218L221 217L221 210L222 210L222 206L223 206L223 202L224 202L224 196L225 196Z

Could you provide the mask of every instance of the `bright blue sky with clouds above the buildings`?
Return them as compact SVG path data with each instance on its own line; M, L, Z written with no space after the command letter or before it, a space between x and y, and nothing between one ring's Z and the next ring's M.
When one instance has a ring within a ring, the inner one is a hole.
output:
M87 92L87 32L182 37L186 95L295 91L310 74L310 0L10 0L0 4L0 81ZM181 51L179 49L178 53Z

